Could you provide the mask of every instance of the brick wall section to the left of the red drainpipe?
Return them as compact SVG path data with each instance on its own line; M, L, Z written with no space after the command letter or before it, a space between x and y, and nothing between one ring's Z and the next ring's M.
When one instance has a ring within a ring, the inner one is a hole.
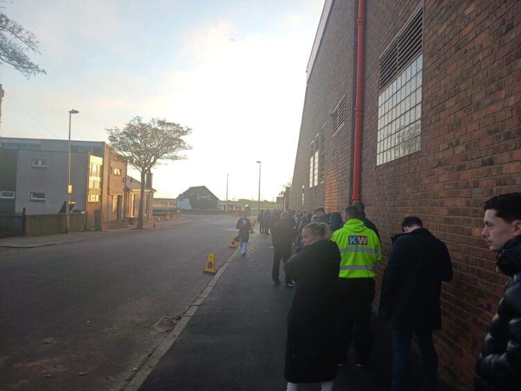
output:
M329 211L338 210L348 199L351 178L351 127L354 121L353 83L355 72L356 7L353 1L335 1L326 31L319 47L315 67L308 80L302 115L297 159L290 191L290 207L311 211L322 205ZM349 75L353 77L343 78ZM346 121L331 134L333 110L346 96ZM310 189L310 144L326 124L326 183ZM304 205L301 189L305 186Z

